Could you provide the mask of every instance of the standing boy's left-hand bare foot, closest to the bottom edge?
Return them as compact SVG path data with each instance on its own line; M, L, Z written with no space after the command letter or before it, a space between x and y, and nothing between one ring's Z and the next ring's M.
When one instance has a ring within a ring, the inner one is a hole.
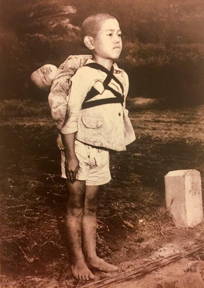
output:
M94 274L88 269L84 260L78 260L76 264L71 265L72 274L79 280L94 279Z

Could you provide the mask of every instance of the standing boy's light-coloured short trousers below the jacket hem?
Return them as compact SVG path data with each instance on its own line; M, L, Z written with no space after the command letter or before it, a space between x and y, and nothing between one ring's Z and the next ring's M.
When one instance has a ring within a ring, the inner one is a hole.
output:
M87 186L98 186L108 183L111 180L109 169L109 152L86 145L75 140L74 150L79 161L77 180L85 181ZM61 150L62 178L65 173L65 152Z

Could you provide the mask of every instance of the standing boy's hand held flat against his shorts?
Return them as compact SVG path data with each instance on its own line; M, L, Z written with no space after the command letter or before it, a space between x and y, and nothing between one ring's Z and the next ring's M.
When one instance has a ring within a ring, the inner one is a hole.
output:
M77 172L79 170L79 161L74 155L72 157L66 158L65 160L65 171L68 181L73 184L77 180Z

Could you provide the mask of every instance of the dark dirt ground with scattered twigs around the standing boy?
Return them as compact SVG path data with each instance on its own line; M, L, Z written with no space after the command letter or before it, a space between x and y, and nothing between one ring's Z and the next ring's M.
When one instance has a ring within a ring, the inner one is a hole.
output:
M97 252L118 265L119 274L204 240L203 223L175 227L165 209L164 187L170 170L197 169L204 175L204 106L176 110L130 104L137 139L126 152L111 153L112 180L101 188L98 209ZM67 195L51 118L7 117L0 120L0 133L1 287L86 285L70 272L64 236ZM113 275L94 273L95 281ZM189 274L204 279L204 250L110 287L181 288L173 277Z

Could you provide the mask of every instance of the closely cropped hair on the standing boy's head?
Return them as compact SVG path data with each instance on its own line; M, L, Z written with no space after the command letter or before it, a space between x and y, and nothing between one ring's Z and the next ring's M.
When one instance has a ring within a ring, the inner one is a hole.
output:
M85 18L84 22L82 23L82 30L81 30L82 38L84 39L85 36L96 37L100 29L101 22L107 19L116 19L116 18L106 13L93 14Z

